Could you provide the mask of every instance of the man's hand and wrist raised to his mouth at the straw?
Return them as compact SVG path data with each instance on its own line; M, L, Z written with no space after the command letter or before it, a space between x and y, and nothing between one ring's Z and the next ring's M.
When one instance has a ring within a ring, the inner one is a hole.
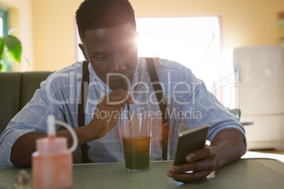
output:
M118 89L99 99L93 119L88 124L93 140L104 137L107 132L116 126L125 104L134 104L129 92Z

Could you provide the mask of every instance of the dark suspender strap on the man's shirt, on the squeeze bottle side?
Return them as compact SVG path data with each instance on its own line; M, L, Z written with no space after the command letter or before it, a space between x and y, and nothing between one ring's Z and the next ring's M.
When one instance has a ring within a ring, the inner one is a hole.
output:
M81 85L81 93L80 93L80 99L78 102L78 126L85 126L85 106L87 103L88 98L88 91L89 91L89 71L88 71L88 62L83 61L83 80ZM85 143L81 145L81 154L83 163L88 163L88 145Z

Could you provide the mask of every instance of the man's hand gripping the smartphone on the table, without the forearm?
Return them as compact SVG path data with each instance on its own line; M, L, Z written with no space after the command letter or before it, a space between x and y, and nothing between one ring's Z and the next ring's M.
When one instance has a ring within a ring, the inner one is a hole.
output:
M167 176L173 178L174 181L182 183L200 181L216 169L216 156L217 154L213 147L206 145L203 149L187 155L186 160L189 162L188 164L171 166L169 171L167 171Z

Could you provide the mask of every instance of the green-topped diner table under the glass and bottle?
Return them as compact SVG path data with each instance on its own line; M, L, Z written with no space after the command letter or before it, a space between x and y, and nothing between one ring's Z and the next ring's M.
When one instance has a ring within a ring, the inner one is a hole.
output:
M150 171L129 173L124 163L75 164L73 188L283 188L284 164L273 159L239 159L215 171L215 178L178 183L167 176L172 161L152 161ZM25 169L31 173L31 169ZM20 169L0 169L0 186L12 185Z

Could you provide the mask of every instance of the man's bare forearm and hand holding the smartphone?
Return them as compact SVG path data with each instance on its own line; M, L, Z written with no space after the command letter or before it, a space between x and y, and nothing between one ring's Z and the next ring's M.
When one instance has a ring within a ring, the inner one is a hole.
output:
M188 154L186 160L189 163L171 166L167 176L182 183L200 181L212 171L237 161L246 151L242 134L234 128L226 128L215 135L210 146Z

